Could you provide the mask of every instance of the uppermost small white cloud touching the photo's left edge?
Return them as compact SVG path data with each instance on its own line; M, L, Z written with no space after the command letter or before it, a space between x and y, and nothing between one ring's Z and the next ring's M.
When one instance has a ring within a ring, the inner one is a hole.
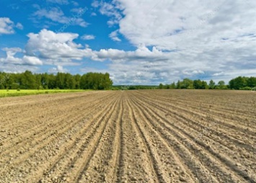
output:
M15 25L8 17L0 17L0 35L14 34L14 27L17 27L20 30L23 29L21 23Z

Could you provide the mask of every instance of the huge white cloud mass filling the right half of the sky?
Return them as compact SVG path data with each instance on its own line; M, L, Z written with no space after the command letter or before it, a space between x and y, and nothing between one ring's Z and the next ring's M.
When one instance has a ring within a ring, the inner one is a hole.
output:
M120 34L137 47L95 53L112 61L110 73L117 83L255 76L256 22L251 17L256 1L115 0L92 6L119 25L112 39ZM156 64L145 69L149 63Z

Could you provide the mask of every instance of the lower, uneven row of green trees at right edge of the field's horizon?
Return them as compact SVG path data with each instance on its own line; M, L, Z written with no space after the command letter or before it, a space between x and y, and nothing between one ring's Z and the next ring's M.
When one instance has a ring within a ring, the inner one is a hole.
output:
M200 79L191 80L183 79L182 81L173 82L172 84L159 84L159 89L242 89L250 90L256 86L256 77L239 76L231 79L229 84L224 81L219 81L217 84L211 80L209 83Z

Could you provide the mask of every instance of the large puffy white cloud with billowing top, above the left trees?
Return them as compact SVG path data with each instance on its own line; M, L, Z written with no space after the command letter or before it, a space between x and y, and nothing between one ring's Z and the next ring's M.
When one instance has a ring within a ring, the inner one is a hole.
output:
M25 47L26 54L51 63L81 61L84 57L97 58L90 48L83 49L82 45L74 43L78 34L55 33L44 29L38 34L30 33L27 36L30 39Z

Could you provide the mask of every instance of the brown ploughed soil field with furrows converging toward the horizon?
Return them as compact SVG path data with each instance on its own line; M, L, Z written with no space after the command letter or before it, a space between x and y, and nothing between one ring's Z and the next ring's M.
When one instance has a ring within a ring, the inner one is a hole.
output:
M256 92L1 98L0 182L256 182Z

